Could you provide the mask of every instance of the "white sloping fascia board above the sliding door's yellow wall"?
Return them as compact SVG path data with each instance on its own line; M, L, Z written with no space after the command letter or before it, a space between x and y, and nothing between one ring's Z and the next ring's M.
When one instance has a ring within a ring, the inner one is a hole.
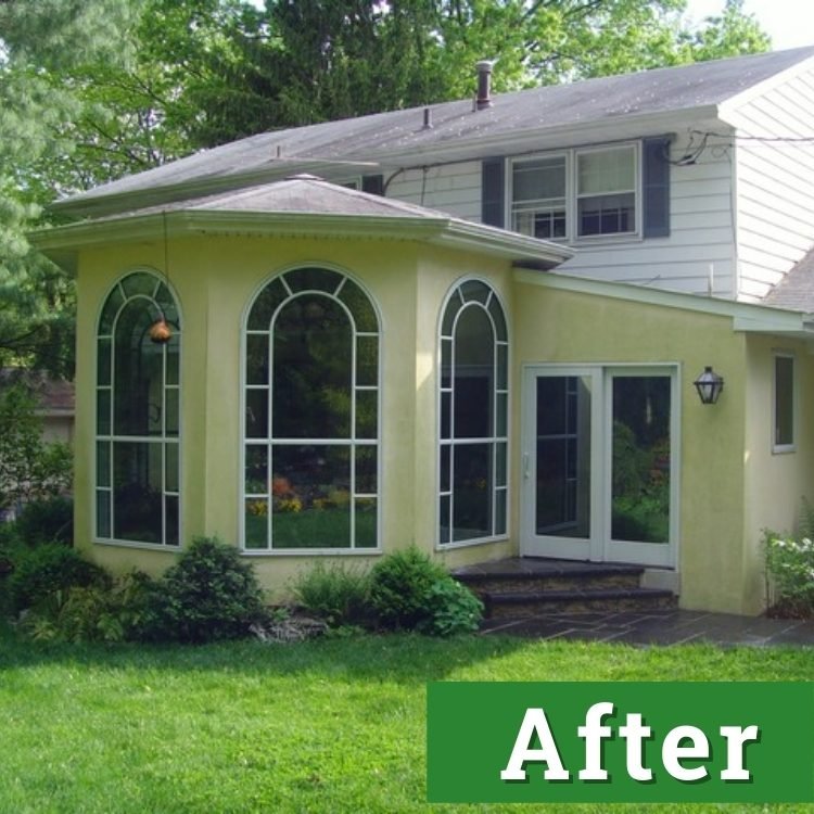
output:
M514 280L531 285L542 285L557 291L590 294L609 300L623 300L631 303L658 305L663 308L690 310L697 314L725 317L733 320L733 330L746 333L780 333L814 338L812 315L802 311L785 310L767 305L737 303L732 300L698 296L679 291L648 289L625 282L592 280L571 275L516 270Z

